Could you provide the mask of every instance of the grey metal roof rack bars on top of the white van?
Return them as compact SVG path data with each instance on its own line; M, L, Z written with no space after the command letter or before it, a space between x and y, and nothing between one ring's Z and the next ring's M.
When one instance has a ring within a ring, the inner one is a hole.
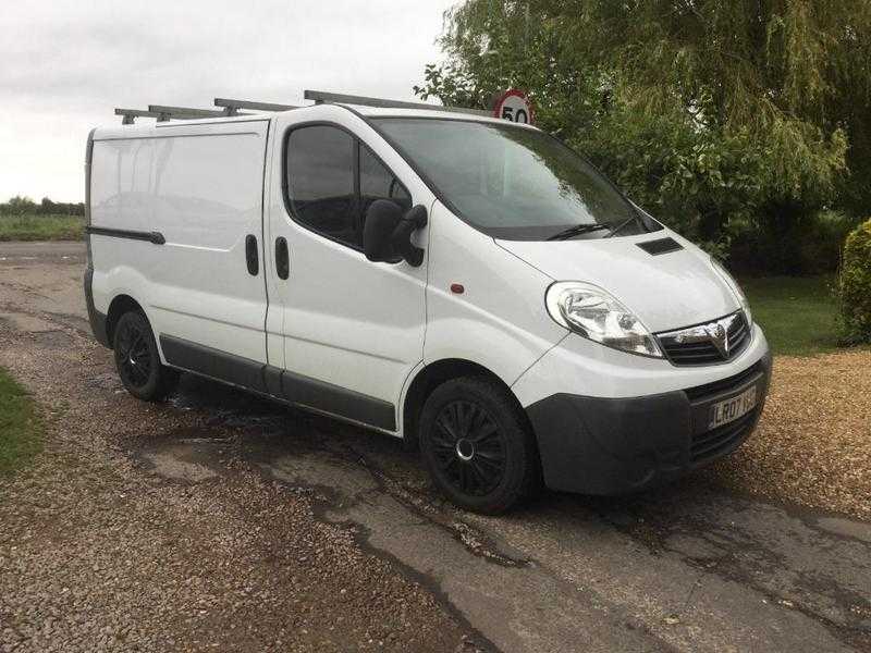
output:
M384 109L426 109L428 111L452 111L455 113L470 113L473 115L491 115L481 109L465 107L442 107L426 102L406 102L384 98L370 98L367 96L344 95L326 90L306 90L304 97L314 100L316 104L343 103L359 104L363 107L379 107ZM169 107L164 104L148 104L148 110L115 109L115 115L121 115L121 124L132 125L137 118L155 118L157 122L168 120L191 120L197 118L224 118L232 115L250 115L248 111L290 111L299 109L294 104L278 104L274 102L258 102L255 100L233 100L229 98L214 98L214 106L219 109L196 109L193 107ZM241 111L242 109L248 111Z

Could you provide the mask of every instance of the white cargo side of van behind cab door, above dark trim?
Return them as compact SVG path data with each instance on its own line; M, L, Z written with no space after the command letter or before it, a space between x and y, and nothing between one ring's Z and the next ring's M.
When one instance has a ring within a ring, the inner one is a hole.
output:
M245 236L262 245L268 124L170 123L95 133L91 225L157 231L167 241L158 246L90 235L98 311L126 294L143 306L156 335L266 359L266 288L261 275L245 269Z

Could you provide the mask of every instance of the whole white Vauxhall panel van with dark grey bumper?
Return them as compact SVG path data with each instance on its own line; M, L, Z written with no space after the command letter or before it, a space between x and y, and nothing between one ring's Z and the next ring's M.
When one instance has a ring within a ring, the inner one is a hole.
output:
M733 452L771 357L735 281L529 125L319 103L87 146L90 323L135 396L179 372L419 445L498 513Z

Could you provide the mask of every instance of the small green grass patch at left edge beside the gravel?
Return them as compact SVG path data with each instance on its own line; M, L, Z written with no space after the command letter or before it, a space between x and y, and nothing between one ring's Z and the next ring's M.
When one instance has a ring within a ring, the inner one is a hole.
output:
M34 401L0 368L0 476L24 466L42 448L42 422Z

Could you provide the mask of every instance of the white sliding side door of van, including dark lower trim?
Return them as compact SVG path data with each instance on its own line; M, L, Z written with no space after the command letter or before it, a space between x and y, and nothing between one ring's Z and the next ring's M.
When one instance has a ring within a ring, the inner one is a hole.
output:
M263 168L269 121L170 123L152 140L150 309L175 366L262 389L267 294Z

